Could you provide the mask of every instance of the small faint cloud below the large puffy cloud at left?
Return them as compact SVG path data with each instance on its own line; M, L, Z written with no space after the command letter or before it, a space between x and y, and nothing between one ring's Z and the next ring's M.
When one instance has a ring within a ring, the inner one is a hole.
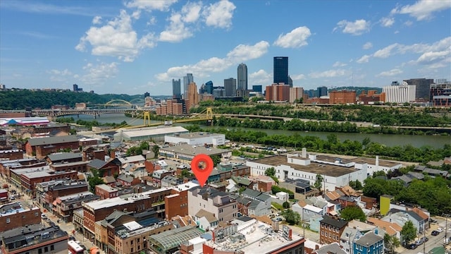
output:
M103 85L106 80L116 77L118 63L99 63L97 65L87 63L87 65L83 66L83 70L87 71L81 77L83 83L87 85Z

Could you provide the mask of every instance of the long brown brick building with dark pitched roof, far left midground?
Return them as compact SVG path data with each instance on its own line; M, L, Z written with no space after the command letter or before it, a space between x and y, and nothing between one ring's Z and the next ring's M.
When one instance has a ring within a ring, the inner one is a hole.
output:
M25 143L25 152L28 156L36 155L37 159L42 159L53 152L64 149L78 149L78 139L75 135L66 135L49 138L30 138Z

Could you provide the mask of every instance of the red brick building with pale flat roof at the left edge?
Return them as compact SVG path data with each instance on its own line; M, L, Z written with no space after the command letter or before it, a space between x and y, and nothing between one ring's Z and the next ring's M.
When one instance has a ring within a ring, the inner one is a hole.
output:
M0 211L0 232L41 222L41 210L38 207L26 207L23 202L0 205Z

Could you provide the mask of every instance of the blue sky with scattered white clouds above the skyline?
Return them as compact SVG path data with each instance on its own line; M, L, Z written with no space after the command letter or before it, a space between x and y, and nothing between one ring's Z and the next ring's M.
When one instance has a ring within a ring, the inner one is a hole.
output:
M0 83L171 95L172 79L223 85L246 63L271 85L382 87L451 80L451 0L0 1Z

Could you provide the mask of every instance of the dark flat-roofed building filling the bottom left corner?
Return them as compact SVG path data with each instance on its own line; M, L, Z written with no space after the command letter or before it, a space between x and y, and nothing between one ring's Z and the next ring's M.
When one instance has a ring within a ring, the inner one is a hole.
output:
M58 226L41 224L18 226L1 234L1 249L4 254L23 253L67 253L68 233Z

